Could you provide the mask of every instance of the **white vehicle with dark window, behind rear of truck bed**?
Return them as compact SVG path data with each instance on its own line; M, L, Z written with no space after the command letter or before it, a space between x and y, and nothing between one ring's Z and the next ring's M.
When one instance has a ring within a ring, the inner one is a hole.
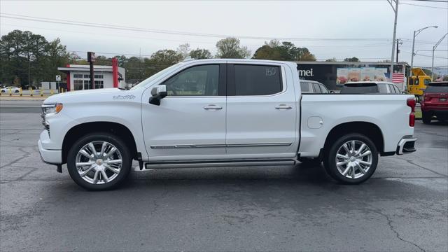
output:
M393 83L383 81L348 82L344 84L341 94L401 94Z

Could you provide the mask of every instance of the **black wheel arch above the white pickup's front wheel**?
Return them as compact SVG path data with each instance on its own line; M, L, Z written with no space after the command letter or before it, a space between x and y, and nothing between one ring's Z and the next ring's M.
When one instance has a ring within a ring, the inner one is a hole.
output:
M69 149L73 146L75 141L92 132L106 132L116 135L125 141L125 144L130 148L132 158L138 158L137 144L134 135L128 127L114 122L89 122L75 125L66 132L64 140L62 141L62 163L66 163L67 153L69 153Z

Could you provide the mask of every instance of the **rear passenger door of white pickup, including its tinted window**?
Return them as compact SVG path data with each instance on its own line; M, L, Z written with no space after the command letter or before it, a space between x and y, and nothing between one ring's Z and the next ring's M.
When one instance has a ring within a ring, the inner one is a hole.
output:
M294 157L297 106L282 64L228 65L227 154L235 158Z

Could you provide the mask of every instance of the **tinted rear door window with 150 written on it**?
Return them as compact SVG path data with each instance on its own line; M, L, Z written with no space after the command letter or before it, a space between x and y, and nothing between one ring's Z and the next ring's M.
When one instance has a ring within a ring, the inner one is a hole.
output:
M235 95L269 95L283 90L280 66L235 64Z

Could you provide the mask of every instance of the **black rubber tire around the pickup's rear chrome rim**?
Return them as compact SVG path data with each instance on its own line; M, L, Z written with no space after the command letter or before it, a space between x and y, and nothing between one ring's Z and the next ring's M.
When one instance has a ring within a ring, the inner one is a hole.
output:
M365 172L365 174L363 174L363 176L360 176L356 179L348 178L342 175L342 173L339 172L339 169L337 169L336 166L337 151L342 147L343 144L351 140L362 142L368 148L370 148L370 152L372 153L370 168L367 170L367 172ZM377 151L377 147L374 145L372 140L370 140L368 137L365 137L365 135L358 133L346 134L345 136L339 137L339 139L334 141L328 151L325 152L323 165L325 166L325 171L328 172L328 175L330 175L332 179L335 179L336 181L344 184L358 184L367 181L367 179L369 179L372 174L374 174L378 165L378 154L379 153Z

